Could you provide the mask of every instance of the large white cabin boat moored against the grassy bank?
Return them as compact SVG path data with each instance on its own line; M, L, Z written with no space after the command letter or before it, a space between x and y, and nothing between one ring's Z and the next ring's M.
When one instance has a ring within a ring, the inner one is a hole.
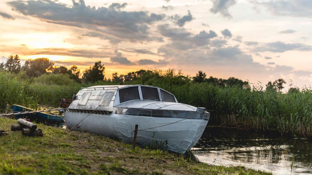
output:
M81 88L64 112L68 130L92 132L184 154L200 139L210 113L178 103L159 87L109 85Z

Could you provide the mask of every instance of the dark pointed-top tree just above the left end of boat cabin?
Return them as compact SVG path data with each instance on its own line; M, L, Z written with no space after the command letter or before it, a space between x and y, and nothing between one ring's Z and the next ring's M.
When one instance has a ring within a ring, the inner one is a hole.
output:
M92 67L83 72L82 80L85 83L104 81L104 70L104 64L102 64L101 61L97 61Z

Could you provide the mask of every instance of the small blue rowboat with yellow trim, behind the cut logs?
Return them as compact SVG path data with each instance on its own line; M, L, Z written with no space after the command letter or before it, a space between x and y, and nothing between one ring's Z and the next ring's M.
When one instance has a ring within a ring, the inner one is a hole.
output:
M34 111L32 109L29 109L27 107L19 106L19 105L12 105L14 113L18 112L27 112L27 111ZM15 115L16 119L19 118L29 118L31 121L38 120L41 122L62 122L64 121L64 116L58 116L53 114L47 114L43 112L36 112L32 114L21 114L21 115Z

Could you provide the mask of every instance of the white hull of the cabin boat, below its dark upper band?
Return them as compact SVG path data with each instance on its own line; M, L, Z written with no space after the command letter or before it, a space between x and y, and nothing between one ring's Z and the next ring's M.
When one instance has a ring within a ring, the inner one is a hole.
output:
M75 126L87 115L88 114L86 113L65 112L67 129ZM110 115L91 114L79 124L79 128L75 127L73 130L90 131L95 134L131 143L134 136L134 127L137 124L139 125L139 131L137 134L137 144L139 146L145 147L157 145L158 148L164 150L185 153L200 139L208 121L202 119L180 120L182 119L119 115L115 113L111 113ZM161 127L141 130L156 126Z

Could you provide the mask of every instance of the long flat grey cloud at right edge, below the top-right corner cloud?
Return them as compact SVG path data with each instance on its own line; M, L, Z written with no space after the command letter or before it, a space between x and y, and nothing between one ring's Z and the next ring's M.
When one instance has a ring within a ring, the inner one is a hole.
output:
M262 51L269 51L269 52L285 52L289 50L299 50L299 51L311 51L312 47L310 45L305 45L301 43L284 43L281 41L265 43L261 46L258 46L254 49L254 51L262 52Z

